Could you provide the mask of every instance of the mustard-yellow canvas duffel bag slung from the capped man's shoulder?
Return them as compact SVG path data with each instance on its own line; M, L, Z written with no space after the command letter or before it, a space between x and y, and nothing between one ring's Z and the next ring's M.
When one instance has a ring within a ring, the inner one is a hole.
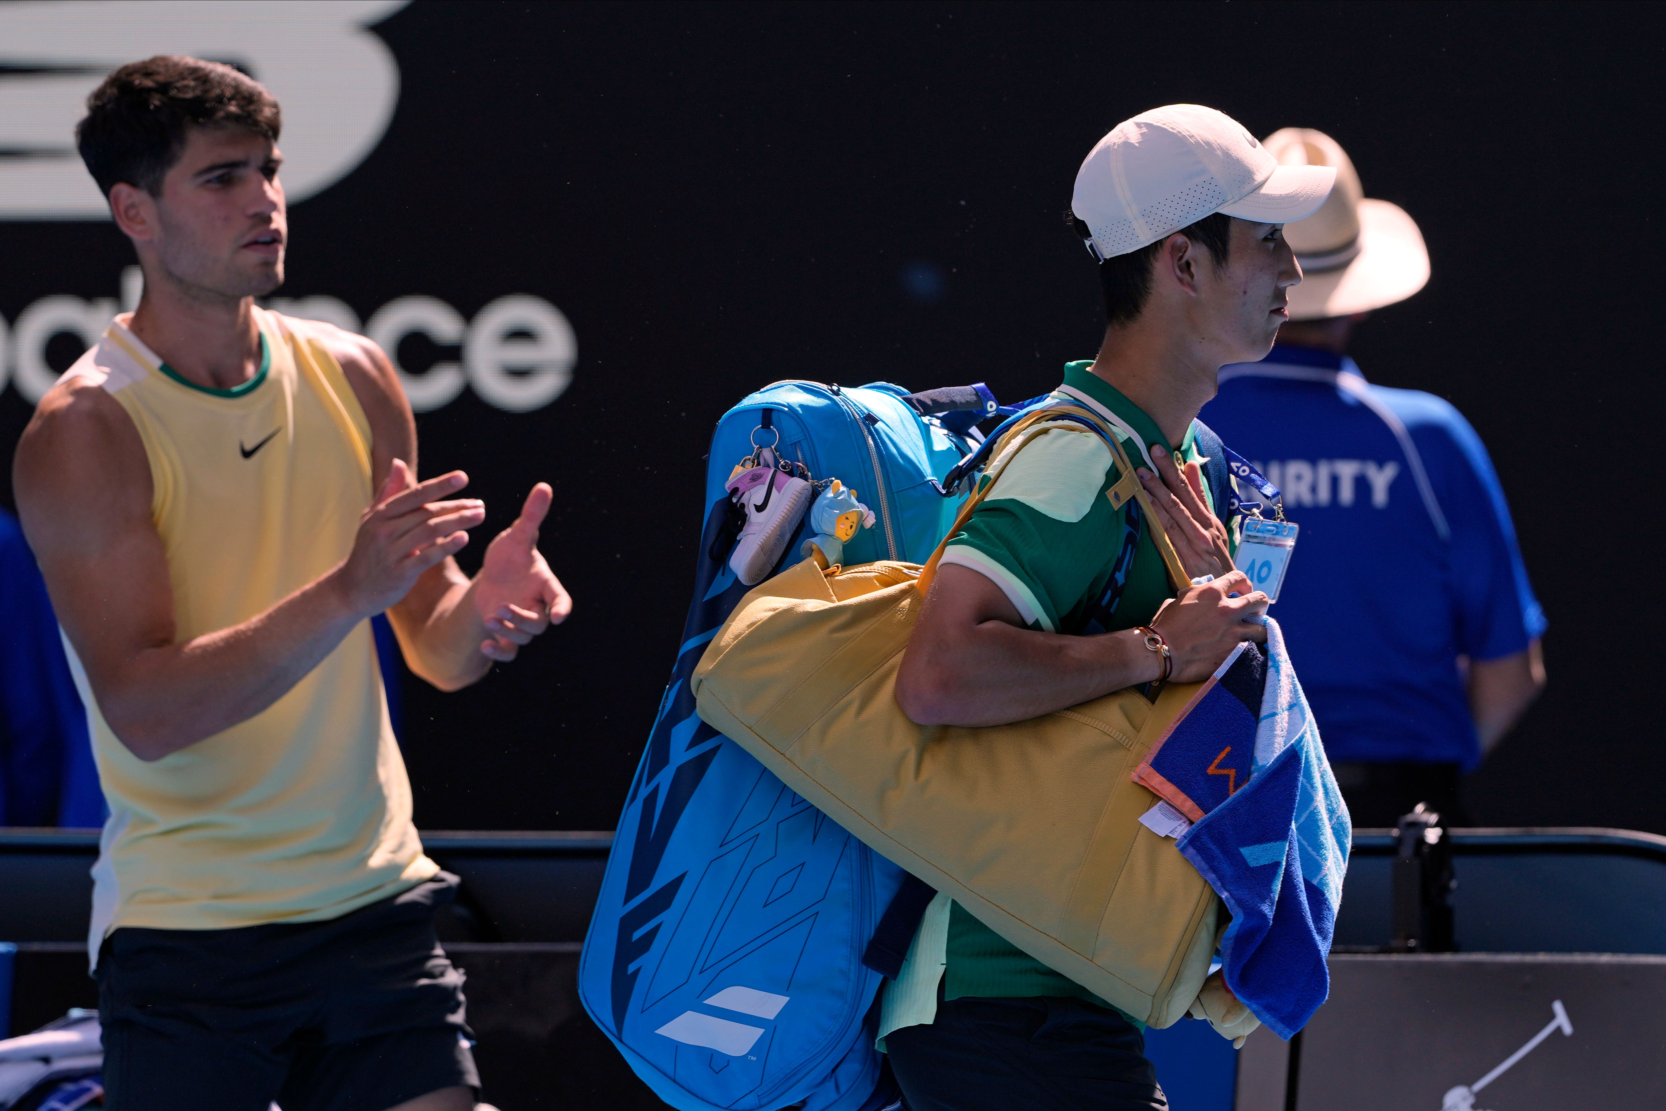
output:
M988 473L1060 411L1015 426ZM1121 468L1113 500L1138 498L1170 576L1185 581L1110 441ZM950 535L993 486L980 485ZM923 568L806 560L758 585L695 670L700 716L1025 953L1170 1026L1208 974L1220 901L1173 839L1140 825L1158 798L1131 776L1201 683L1171 683L1155 705L1125 690L1013 725L915 725L896 705L896 668L946 543Z

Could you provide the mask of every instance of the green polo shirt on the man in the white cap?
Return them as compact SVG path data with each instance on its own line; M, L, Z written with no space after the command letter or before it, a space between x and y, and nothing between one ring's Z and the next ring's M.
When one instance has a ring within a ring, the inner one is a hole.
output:
M1150 466L1148 453L1175 450L1156 421L1091 366L1091 361L1066 363L1065 383L1053 396L1090 408L1116 426L1135 466ZM1178 445L1183 460L1200 458L1193 433L1188 428ZM1116 460L1098 435L1075 423L1048 430L995 480L966 528L950 538L943 563L960 563L990 578L1031 630L1081 633L1123 546L1128 506L1111 508L1106 496L1118 478ZM1096 616L1106 631L1146 625L1173 593L1150 528L1141 528L1121 600L1108 616ZM1076 996L1111 1006L960 904L950 911L946 958L948 999Z

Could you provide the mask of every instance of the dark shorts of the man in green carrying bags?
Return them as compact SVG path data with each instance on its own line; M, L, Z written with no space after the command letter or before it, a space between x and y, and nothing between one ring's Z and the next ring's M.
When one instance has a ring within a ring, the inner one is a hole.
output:
M885 1036L908 1111L1166 1111L1145 1034L1085 999L938 999Z

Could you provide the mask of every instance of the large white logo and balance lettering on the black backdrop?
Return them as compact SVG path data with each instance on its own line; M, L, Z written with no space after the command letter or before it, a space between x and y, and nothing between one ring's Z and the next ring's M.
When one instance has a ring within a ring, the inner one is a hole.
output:
M307 200L352 173L382 142L400 98L400 68L370 27L408 0L52 0L0 3L0 220L108 220L75 150L75 123L105 75L137 58L185 53L238 67L283 105L283 190ZM120 298L48 295L0 318L0 388L28 401L57 381L47 346L60 335L92 346L118 310L138 303L138 268ZM550 301L508 293L465 320L433 296L400 296L360 320L333 296L273 298L270 308L325 320L375 340L418 413L465 388L495 408L526 413L573 378L578 340ZM10 335L10 343L7 341ZM421 373L400 345L425 336L460 358Z

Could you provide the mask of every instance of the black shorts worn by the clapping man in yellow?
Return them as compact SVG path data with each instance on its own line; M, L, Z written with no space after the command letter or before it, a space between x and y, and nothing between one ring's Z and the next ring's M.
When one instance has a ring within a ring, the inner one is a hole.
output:
M433 929L440 873L332 921L135 929L98 953L113 1111L385 1111L480 1089L463 973Z

